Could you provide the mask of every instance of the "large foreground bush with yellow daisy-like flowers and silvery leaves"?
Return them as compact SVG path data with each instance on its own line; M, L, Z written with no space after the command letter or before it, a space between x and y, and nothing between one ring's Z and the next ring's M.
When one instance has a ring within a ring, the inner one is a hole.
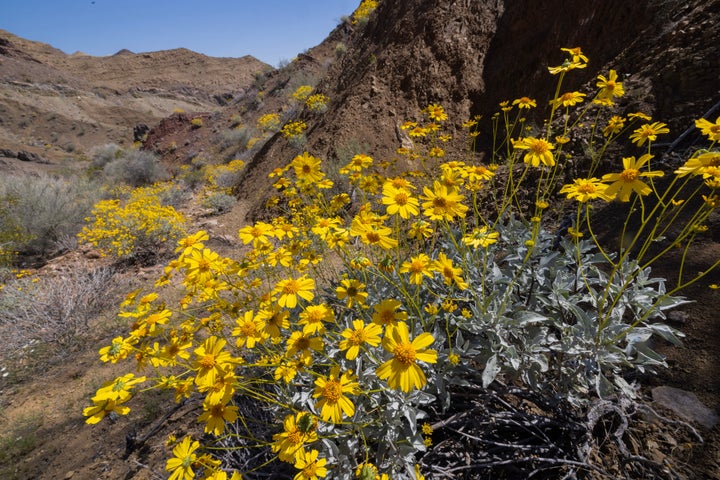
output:
M637 400L630 375L665 366L653 339L681 336L665 313L720 265L697 272L683 261L672 286L651 274L666 254L691 255L719 204L720 119L698 122L709 149L660 170L651 146L665 125L642 113L610 116L623 94L614 71L598 77L584 105L587 94L562 93L565 74L587 61L580 49L564 51L550 68L558 93L543 128L523 120L534 100L503 102L490 119L488 163L474 148L448 158L456 154L446 148L448 115L430 104L402 127L413 144L398 154L415 170L388 174L392 162L356 152L339 171L351 199L332 193L321 160L304 152L272 172L274 218L240 229L248 247L240 258L207 248L204 231L180 241L156 288L181 284L182 298L173 306L158 292L128 297L121 315L133 318L130 331L100 351L102 361L134 358L157 370L101 387L87 422L127 413L141 384L178 402L197 398L206 435L174 444L166 469L178 478L262 474L254 471L273 460L301 479L602 473L605 442L625 448L619 437L596 438L602 408L629 421L621 407ZM580 130L583 122L593 126ZM478 123L464 123L471 146ZM619 138L639 158L604 158ZM586 147L578 162L563 152L573 139ZM612 173L594 177L602 161ZM583 173L566 182L569 167ZM593 213L616 205L628 208L625 243L614 251L596 235ZM558 221L564 212L567 223ZM549 410L564 413L540 413ZM495 436L449 427L461 420ZM501 427L511 427L507 437L497 436ZM546 427L571 441L558 449ZM439 435L444 450L433 448ZM466 438L476 448L453 452ZM670 468L642 453L619 463L649 469L648 478Z

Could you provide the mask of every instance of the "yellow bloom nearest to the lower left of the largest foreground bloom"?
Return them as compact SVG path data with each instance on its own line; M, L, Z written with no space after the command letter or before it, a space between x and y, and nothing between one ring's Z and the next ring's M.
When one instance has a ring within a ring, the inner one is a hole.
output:
M340 367L333 367L327 378L315 380L313 398L319 398L315 407L320 409L320 418L332 423L340 423L343 413L352 417L355 414L355 405L345 395L357 395L360 385L349 372L340 375Z

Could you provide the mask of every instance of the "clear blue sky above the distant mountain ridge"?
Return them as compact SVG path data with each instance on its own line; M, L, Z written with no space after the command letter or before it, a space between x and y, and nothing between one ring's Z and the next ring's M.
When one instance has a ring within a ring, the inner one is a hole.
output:
M359 0L2 0L0 29L105 56L188 48L270 65L320 43Z

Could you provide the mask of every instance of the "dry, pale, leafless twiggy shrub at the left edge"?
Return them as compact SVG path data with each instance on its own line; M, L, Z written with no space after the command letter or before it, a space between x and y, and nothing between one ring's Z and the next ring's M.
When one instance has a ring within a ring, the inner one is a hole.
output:
M89 322L117 301L115 272L108 267L72 268L42 277L28 275L0 290L0 359L27 364L63 356L87 338Z

